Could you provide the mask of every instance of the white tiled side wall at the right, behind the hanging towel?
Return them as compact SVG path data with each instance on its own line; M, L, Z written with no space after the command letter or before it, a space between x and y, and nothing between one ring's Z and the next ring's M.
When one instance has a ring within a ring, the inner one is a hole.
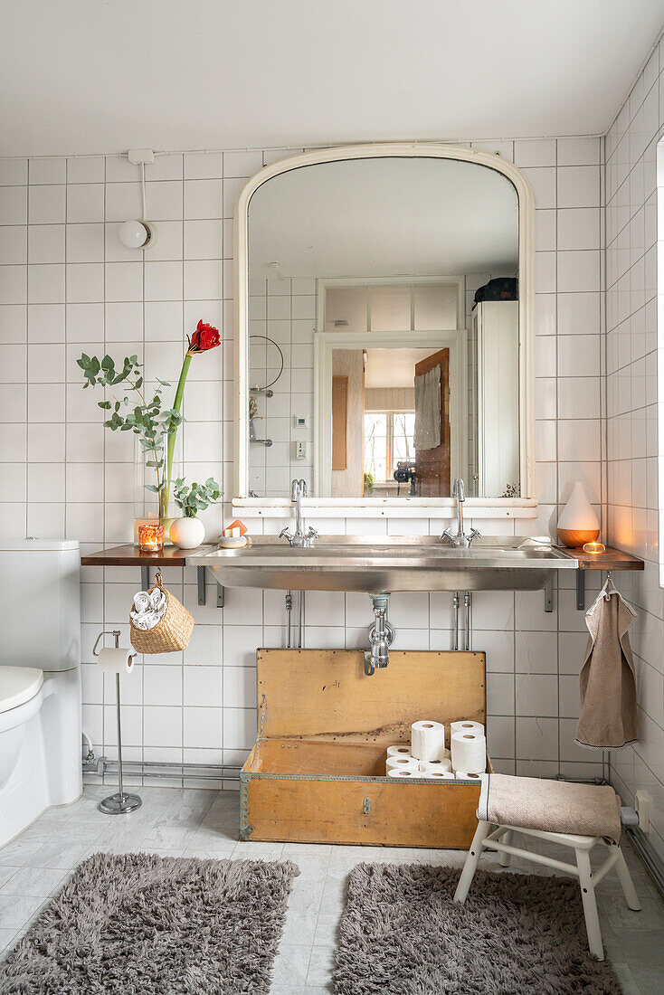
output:
M634 748L611 754L611 778L629 804L639 788L651 795L650 841L662 859L664 602L657 528L657 404L662 390L657 347L662 332L657 326L656 148L664 131L663 70L660 43L606 136L605 169L608 534L646 561L644 573L616 578L639 612L631 630L639 740ZM659 183L664 184L661 174ZM661 220L659 224L661 240ZM661 252L661 241L659 246ZM660 274L661 265L660 259Z

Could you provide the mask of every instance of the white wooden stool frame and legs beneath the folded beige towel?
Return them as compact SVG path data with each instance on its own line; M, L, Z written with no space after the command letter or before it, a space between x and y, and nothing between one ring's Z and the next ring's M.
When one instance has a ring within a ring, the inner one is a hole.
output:
M629 908L638 911L641 907L641 903L634 890L631 875L625 864L625 858L620 850L620 844L607 844L599 836L572 836L567 833L547 833L539 829L522 829L519 826L499 826L492 833L491 827L492 824L489 822L480 822L478 824L464 869L461 872L457 890L454 893L454 900L462 904L466 900L483 849L494 850L500 853L500 863L503 867L509 867L510 860L514 855L533 861L534 864L542 864L544 867L555 868L556 871L564 871L566 874L578 878L590 953L594 954L597 960L603 960L604 947L601 941L599 916L597 915L595 888L612 867L615 867L622 893ZM574 851L576 864L564 864L562 861L553 860L552 857L546 857L544 854L537 854L530 850L520 850L518 847L514 847L512 845L512 836L515 832L524 833L526 836L533 836L540 840L548 840L550 843L558 843L563 847L569 847ZM598 843L603 843L604 846L608 847L609 856L597 871L592 871L590 869L589 855L592 848Z

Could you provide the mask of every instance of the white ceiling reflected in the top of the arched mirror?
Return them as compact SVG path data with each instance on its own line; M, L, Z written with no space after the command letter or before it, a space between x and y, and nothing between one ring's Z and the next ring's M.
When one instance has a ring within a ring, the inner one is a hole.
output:
M495 169L452 159L346 159L293 169L249 205L249 272L441 277L519 268L517 193Z

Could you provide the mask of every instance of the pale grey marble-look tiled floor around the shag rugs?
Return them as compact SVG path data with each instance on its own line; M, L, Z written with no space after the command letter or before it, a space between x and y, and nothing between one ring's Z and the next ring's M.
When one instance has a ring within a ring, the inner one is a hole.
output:
M18 942L48 896L57 894L80 861L93 853L291 860L300 875L293 882L271 995L328 995L347 878L355 864L461 868L465 860L465 853L458 850L238 842L239 801L230 791L142 787L142 807L130 816L110 819L98 810L100 800L110 793L109 785L87 786L73 805L44 813L0 850L0 951ZM564 848L538 844L538 849L569 859ZM606 954L624 995L662 995L664 901L628 841L623 849L643 909L633 912L626 907L613 874L601 882L597 903ZM593 866L605 856L596 850ZM481 866L513 873L556 873L527 859L502 869L498 855L492 854L483 856Z

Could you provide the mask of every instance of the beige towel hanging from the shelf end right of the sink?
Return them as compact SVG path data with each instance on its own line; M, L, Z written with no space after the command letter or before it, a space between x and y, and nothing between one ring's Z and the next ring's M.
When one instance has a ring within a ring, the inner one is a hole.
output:
M627 635L635 617L610 579L585 614L590 636L579 678L579 746L619 749L637 738L634 661Z

